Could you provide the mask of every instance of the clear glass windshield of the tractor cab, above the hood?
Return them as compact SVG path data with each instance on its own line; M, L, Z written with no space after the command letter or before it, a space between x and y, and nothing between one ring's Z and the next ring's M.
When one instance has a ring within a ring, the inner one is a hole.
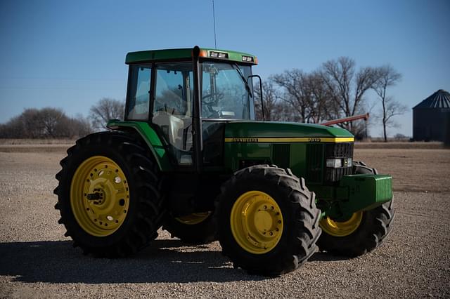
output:
M255 119L250 66L205 61L200 71L203 119Z

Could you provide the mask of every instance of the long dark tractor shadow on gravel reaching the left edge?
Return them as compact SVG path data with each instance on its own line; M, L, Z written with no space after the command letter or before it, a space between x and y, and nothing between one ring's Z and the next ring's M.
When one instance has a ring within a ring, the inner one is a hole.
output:
M15 281L47 283L189 283L261 281L266 277L233 269L219 251L157 239L130 258L92 258L72 241L0 243L0 275Z

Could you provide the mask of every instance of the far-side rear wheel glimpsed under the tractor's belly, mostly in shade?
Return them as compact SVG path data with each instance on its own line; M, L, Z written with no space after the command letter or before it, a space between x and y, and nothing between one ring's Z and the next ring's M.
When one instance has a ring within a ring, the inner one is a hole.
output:
M205 244L214 241L212 212L193 213L180 217L167 215L162 228L189 244Z

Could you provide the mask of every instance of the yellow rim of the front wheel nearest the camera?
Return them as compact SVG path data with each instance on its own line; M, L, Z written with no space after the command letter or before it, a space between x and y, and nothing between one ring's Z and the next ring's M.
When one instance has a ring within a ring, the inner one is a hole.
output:
M283 234L280 207L269 194L261 191L242 194L233 204L230 221L234 239L250 253L268 253Z

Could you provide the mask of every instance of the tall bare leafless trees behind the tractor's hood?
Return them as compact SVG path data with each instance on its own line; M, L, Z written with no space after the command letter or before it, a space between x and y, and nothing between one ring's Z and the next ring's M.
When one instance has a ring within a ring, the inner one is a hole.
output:
M324 62L313 72L302 69L274 74L263 84L264 116L270 121L295 121L320 124L331 119L364 114L370 108L366 94L372 90L378 97L380 109L375 116L387 128L396 126L393 117L403 114L406 106L388 95L387 89L401 80L401 74L390 65L360 67L348 57ZM259 93L255 93L259 95ZM258 118L262 118L260 99L256 99ZM343 128L361 137L364 124L347 122Z

